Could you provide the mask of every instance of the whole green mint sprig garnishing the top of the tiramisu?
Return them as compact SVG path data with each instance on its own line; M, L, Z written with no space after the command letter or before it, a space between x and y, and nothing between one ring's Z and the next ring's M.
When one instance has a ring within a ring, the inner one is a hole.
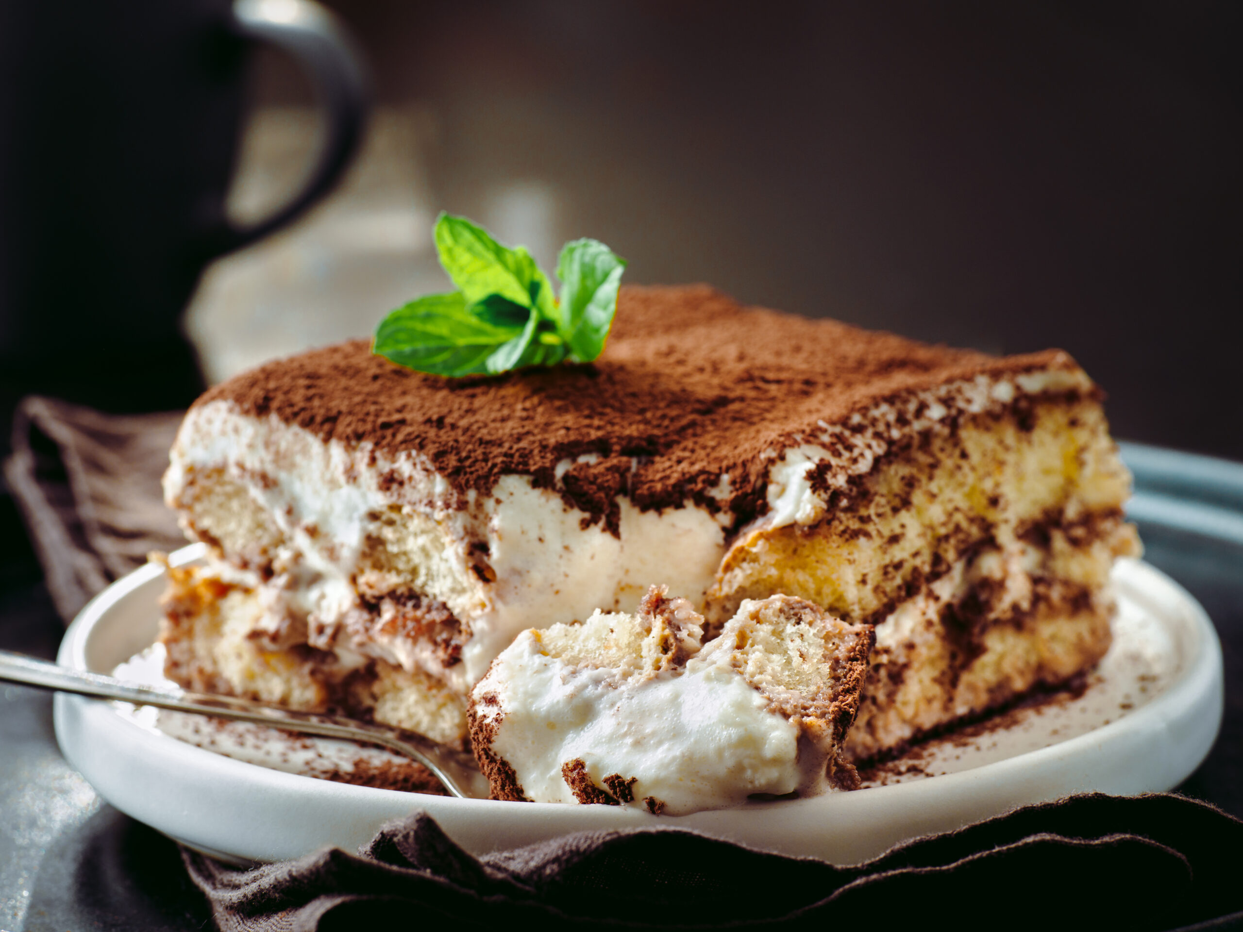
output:
M435 242L457 291L390 312L372 352L409 369L459 377L589 363L604 349L625 260L603 242L562 247L559 301L530 252L501 245L465 217L441 214Z

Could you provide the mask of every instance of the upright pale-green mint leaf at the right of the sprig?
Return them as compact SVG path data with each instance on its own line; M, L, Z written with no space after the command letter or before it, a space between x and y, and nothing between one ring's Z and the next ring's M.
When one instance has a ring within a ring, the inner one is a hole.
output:
M557 260L561 304L557 327L571 359L589 363L604 350L618 307L625 260L595 240L567 242Z

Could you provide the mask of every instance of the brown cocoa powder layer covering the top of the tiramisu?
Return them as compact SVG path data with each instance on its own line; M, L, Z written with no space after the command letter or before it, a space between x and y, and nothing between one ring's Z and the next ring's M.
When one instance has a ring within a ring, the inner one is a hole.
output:
M818 421L979 373L1074 362L1059 350L994 358L835 321L747 308L702 285L626 287L603 355L584 365L446 379L373 355L367 340L260 367L198 404L234 401L324 440L418 450L459 491L487 493L505 473L556 486L617 531L619 495L639 508L687 500L750 521L764 500L766 451ZM730 495L710 495L730 475Z

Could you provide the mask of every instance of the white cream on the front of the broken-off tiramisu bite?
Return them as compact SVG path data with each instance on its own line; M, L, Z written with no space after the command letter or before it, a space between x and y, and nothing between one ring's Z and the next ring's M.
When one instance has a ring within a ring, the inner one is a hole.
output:
M576 759L597 787L612 774L635 778L629 805L644 808L654 797L670 815L798 789L798 729L768 711L727 657L716 651L677 674L618 682L615 671L543 654L523 631L475 688L498 696L500 715L495 706L476 708L497 718L492 749L536 802L576 802L562 774Z

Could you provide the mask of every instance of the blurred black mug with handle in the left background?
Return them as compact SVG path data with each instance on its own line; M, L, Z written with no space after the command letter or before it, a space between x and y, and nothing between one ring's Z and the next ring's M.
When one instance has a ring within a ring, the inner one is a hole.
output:
M225 198L256 42L306 70L326 132L301 193L240 227ZM352 42L310 0L2 0L0 75L0 445L24 394L189 404L180 316L204 267L302 214L357 149Z

